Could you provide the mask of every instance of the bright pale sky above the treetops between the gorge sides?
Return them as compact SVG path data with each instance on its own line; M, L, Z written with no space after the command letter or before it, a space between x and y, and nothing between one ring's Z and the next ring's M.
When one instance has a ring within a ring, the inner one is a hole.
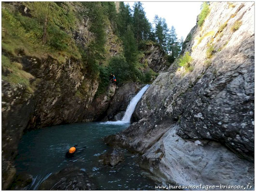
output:
M134 2L129 3L132 8ZM177 37L183 36L184 40L189 31L196 25L197 15L200 13L202 2L143 2L143 8L150 23L154 16L165 18L168 28L172 25L176 29Z

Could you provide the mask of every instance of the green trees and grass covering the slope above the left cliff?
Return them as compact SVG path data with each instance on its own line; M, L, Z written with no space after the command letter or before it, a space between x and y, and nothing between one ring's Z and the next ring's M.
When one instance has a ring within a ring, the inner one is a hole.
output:
M67 58L79 60L87 75L100 82L96 95L106 91L110 72L120 84L150 82L156 73L139 62L144 52L139 47L155 42L173 62L182 46L174 27L169 30L162 18L155 21L152 27L141 2L135 2L133 10L123 2L118 10L114 2L3 2L2 56L9 63L2 65L3 77L29 89L32 75L25 78L12 70L18 55L23 54L50 55L58 63ZM77 35L81 26L85 39ZM111 43L120 47L118 55L109 53Z

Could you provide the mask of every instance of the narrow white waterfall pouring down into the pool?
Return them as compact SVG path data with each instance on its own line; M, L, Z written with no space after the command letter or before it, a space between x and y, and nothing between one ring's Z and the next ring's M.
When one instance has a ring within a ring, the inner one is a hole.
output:
M149 87L149 84L145 85L139 91L139 93L137 93L137 95L135 95L135 97L132 98L131 102L129 103L129 105L126 108L126 111L125 111L125 114L124 114L122 120L107 121L107 122L103 122L103 124L123 124L123 123L129 123L131 118L132 118L132 115L134 113L134 109L135 109L137 103L139 102L140 98L143 96L145 91L147 91L148 87Z

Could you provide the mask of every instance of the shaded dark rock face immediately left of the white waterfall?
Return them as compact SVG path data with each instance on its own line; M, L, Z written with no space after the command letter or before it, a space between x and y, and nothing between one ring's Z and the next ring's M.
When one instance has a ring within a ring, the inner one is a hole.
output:
M142 85L135 83L127 83L119 87L109 103L103 121L121 120L130 101L141 87Z

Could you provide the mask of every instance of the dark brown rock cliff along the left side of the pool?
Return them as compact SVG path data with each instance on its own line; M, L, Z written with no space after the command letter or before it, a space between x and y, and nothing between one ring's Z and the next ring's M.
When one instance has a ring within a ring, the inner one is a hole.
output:
M16 12L24 13L25 6L20 2L8 4ZM76 9L77 4L67 4ZM30 10L29 10L30 11ZM31 17L31 15L26 15ZM86 45L88 24L86 19L76 23L72 31L73 40L78 45ZM5 26L4 26L5 27ZM106 58L121 51L121 43L116 41L111 26L106 26L108 48ZM2 189L13 180L15 168L13 159L17 145L25 129L38 129L63 123L96 120L108 108L116 87L109 84L106 93L96 99L99 80L74 57L58 60L51 54L29 54L17 49L10 56L18 63L21 72L29 75L29 89L23 84L10 84L2 78ZM2 68L3 75L12 70ZM95 107L96 106L96 107Z

